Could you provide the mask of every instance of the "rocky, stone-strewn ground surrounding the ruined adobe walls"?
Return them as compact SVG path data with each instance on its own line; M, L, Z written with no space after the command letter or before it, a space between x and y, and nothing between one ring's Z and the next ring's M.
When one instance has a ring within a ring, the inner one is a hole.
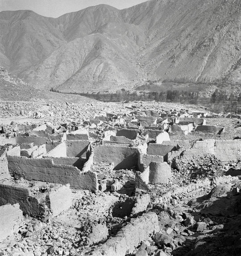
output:
M202 110L193 105L157 102L73 103L68 98L62 103L0 101L1 132L11 137L24 134L33 123L51 123L58 134L84 126L95 114L115 113L125 117L135 109ZM237 119L210 118L208 124L224 126L226 130L221 135L191 133L185 139L233 139L241 135ZM93 127L93 145L99 144L103 132L112 128L111 122ZM139 139L144 141L145 136ZM184 138L173 136L171 139ZM210 156L192 161L177 159L176 168L172 169L165 185L150 185L148 192L142 192L135 190L135 168L115 171L109 164L94 164L100 184L98 192L73 190L72 207L56 218L25 216L18 233L0 243L0 256L91 255L100 240L104 243L115 236L136 217L133 206L137 198L147 198L147 207L142 213L156 213L160 231L140 241L129 256L239 256L241 180L239 176L223 176L230 168L240 169L241 164L224 163ZM103 180L115 180L115 186L110 185L103 192Z

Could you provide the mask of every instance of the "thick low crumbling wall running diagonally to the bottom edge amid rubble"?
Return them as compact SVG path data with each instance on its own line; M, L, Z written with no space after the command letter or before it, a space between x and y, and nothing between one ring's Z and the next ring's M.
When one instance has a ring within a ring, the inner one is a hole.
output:
M122 227L116 236L95 248L92 256L125 256L133 253L135 248L160 230L157 214L150 212L140 217L132 218L130 223ZM88 255L88 254L87 254Z

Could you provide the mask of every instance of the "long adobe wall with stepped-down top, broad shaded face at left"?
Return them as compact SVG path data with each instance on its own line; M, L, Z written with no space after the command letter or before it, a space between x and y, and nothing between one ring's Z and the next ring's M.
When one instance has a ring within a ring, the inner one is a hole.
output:
M25 157L8 157L8 169L12 176L26 180L39 180L50 183L70 184L73 189L96 191L97 176L95 172L80 172L74 166L54 164L52 159L31 159Z

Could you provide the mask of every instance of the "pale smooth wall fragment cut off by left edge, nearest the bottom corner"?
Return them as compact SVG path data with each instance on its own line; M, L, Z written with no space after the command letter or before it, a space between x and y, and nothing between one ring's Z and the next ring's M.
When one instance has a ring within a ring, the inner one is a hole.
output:
M0 242L18 230L22 219L19 204L0 206Z

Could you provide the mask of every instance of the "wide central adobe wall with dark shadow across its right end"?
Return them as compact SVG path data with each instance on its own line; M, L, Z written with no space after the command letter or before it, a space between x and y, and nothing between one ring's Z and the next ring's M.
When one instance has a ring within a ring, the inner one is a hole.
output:
M131 169L138 165L136 147L100 145L94 149L94 163L114 163L115 169Z

